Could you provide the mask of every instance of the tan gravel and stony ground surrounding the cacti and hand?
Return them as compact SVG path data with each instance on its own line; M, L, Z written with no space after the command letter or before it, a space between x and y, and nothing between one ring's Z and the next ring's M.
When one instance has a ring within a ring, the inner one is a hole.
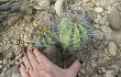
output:
M62 13L54 8L51 0L0 0L0 73L1 77L20 76L18 64L23 46L32 46L31 35L33 29L42 21L58 20L55 14ZM78 2L78 3L77 3ZM37 4L36 4L37 3ZM64 63L61 52L53 52L57 64L68 67L75 58L82 58L84 67L78 77L121 77L121 6L119 0L73 0L68 8L82 13L91 24L89 44L74 55L66 53ZM61 4L61 3L59 3ZM80 11L78 11L77 9ZM118 7L118 9L117 9ZM62 7L59 7L62 9ZM57 13L58 12L58 13ZM63 11L65 12L65 11ZM113 16L114 15L114 16ZM51 57L51 55L48 55ZM3 61L3 62L2 62ZM52 58L53 61L53 58Z

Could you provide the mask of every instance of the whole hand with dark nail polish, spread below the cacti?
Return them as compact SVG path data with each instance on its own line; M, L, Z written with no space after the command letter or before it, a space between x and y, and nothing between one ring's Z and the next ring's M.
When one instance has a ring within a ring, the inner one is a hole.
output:
M52 63L36 48L22 55L23 64L20 64L22 77L76 77L81 67L76 61L69 68L62 69Z

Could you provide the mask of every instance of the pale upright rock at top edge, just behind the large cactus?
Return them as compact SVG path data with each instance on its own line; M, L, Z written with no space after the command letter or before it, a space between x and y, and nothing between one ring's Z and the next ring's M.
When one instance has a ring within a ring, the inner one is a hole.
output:
M57 0L55 2L55 11L57 15L61 15L63 13L63 9L64 9L64 0Z

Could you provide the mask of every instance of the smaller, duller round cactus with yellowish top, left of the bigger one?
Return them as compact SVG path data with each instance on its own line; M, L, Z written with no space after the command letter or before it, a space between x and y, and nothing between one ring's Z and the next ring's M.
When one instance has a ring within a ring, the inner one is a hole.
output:
M43 22L43 24L38 25L34 31L34 42L36 46L46 47L56 43L57 35L53 23Z

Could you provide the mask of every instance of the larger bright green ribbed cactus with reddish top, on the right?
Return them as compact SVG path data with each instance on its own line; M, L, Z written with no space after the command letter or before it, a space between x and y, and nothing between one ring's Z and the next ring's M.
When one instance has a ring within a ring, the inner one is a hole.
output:
M78 19L63 18L59 29L59 41L64 47L77 50L88 41L87 24Z

